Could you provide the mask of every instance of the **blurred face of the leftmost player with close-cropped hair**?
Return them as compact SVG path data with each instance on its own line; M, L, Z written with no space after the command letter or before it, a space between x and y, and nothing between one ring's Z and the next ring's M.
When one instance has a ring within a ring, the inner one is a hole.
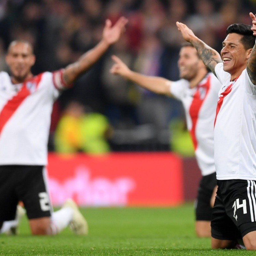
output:
M6 63L12 76L19 82L26 80L31 73L30 68L35 63L35 55L29 44L23 42L13 43L6 55Z

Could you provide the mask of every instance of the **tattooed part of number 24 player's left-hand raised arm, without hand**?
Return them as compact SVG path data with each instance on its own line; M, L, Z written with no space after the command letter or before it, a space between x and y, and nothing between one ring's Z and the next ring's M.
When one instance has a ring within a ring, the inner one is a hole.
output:
M204 62L204 65L210 68L212 73L216 76L214 70L215 66L222 62L220 54L201 40L197 40L191 43L195 46L200 58Z

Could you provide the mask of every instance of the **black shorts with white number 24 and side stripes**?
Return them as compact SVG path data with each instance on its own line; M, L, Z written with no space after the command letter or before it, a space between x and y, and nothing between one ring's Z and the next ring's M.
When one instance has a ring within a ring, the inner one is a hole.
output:
M212 237L236 240L256 230L256 185L252 180L218 180Z

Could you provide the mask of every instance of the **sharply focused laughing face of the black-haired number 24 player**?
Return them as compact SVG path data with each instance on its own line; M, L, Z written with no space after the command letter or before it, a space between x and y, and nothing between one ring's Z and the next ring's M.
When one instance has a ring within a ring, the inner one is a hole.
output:
M223 69L231 75L246 67L248 50L244 49L244 45L240 41L242 37L242 35L230 33L222 43L220 55L223 61Z

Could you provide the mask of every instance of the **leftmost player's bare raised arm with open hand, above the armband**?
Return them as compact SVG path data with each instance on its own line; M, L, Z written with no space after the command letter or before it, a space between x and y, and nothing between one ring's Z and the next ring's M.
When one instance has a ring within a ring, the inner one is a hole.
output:
M111 44L116 43L125 30L128 20L121 17L112 26L110 20L106 20L101 41L91 50L84 53L75 63L68 65L63 72L63 79L66 84L72 84L78 76L81 76L107 51Z

